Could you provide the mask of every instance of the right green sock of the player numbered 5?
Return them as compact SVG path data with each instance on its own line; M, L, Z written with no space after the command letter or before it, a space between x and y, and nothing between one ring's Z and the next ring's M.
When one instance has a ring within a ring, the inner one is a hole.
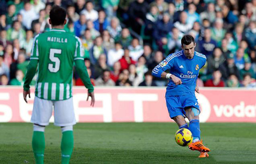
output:
M73 131L65 131L62 133L61 140L61 163L69 163L72 150L74 147Z

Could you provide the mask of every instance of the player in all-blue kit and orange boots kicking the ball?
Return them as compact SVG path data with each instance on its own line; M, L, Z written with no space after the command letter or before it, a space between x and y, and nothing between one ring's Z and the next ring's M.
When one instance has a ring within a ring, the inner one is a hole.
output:
M200 140L199 114L200 107L195 97L197 76L206 62L205 55L196 52L194 38L186 34L181 39L182 50L168 55L152 72L153 76L170 79L166 89L166 104L170 118L179 128L188 128L193 135L189 149L200 151L199 157L208 157L209 148ZM169 69L170 73L165 71ZM189 126L185 122L189 119Z

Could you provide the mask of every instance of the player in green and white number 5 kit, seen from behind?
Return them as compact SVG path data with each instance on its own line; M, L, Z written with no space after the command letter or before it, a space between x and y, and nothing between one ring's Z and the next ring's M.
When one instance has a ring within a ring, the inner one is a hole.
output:
M30 98L29 84L36 74L38 79L31 122L33 123L32 148L37 163L43 163L44 157L44 128L49 125L54 107L54 125L62 128L62 163L69 163L74 138L73 125L76 124L73 98L72 78L73 63L76 71L86 88L88 97L91 97L91 106L94 106L94 87L90 83L84 58L82 43L79 38L66 33L66 11L60 6L53 6L50 11L49 32L38 34L34 38L30 63L24 83L24 100Z

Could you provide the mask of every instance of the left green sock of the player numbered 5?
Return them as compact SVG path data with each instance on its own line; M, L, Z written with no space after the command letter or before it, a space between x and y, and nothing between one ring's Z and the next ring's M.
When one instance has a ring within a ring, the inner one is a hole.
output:
M44 156L44 132L34 131L32 137L32 148L34 153L34 158L36 158L36 163L43 163Z

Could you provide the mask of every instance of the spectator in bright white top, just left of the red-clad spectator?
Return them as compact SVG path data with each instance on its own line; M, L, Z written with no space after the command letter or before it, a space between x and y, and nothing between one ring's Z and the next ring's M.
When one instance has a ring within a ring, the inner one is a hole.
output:
M114 63L122 58L123 54L124 50L122 49L122 45L119 42L115 42L115 48L108 52L108 65L112 67Z

